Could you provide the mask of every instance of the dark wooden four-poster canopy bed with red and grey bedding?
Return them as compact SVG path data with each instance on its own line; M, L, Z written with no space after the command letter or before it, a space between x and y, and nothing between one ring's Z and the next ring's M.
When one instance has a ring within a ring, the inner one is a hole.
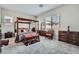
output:
M25 22L23 22L25 21ZM26 22L27 21L27 22ZM25 18L19 18L17 17L17 21L15 22L15 28L16 28L16 39L15 39L15 42L24 42L25 43L33 43L33 41L40 41L39 40L39 34L37 33L37 31L33 32L33 31L30 31L30 24L31 22L34 22L34 23L38 23L38 29L39 29L39 22L36 21L36 20L32 20L32 19L25 19ZM19 24L29 24L29 28L19 28ZM36 25L35 25L36 26ZM22 33L19 34L19 30L21 30ZM23 30L28 30L28 32L24 32L23 33Z

